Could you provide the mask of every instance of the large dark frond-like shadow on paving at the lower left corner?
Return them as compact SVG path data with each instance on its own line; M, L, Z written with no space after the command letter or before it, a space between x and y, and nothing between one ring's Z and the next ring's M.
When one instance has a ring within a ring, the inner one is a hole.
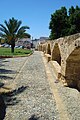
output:
M3 120L6 115L6 107L16 105L20 102L17 100L17 95L24 92L28 86L21 86L9 93L2 93L0 95L0 120Z

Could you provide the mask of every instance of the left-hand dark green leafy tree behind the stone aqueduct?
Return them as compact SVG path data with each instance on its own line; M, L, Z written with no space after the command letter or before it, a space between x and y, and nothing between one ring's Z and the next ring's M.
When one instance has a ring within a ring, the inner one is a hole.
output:
M50 38L59 38L67 32L65 29L68 26L67 23L67 9L61 7L61 9L56 10L55 13L51 15L51 21L49 23L49 29L51 29Z

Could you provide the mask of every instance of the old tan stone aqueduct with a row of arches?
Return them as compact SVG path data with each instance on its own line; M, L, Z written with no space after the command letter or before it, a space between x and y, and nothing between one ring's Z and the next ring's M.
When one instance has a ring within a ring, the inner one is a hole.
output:
M80 33L38 45L53 65L57 79L80 90Z

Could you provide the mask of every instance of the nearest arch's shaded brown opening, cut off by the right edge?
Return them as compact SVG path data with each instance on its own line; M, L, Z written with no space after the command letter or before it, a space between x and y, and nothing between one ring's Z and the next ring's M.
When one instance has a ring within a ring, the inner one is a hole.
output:
M80 90L80 47L75 48L66 60L66 82Z

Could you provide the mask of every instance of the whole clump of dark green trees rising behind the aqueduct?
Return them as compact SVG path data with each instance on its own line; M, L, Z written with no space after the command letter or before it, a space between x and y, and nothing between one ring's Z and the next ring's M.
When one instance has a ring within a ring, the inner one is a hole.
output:
M49 23L50 39L56 39L67 35L80 32L80 8L71 6L69 8L69 14L67 9L61 7L51 14L51 20Z

